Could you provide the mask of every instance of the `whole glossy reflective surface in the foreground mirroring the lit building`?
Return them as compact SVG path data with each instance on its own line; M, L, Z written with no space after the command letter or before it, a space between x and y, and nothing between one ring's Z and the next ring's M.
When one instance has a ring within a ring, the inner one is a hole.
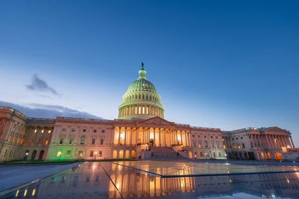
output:
M262 173L248 175L249 171ZM267 173L273 171L276 173ZM279 173L284 171L290 173ZM1 198L297 199L299 172L296 171L296 166L169 161L87 162L15 189ZM238 175L230 175L234 172ZM213 176L215 173L227 175Z

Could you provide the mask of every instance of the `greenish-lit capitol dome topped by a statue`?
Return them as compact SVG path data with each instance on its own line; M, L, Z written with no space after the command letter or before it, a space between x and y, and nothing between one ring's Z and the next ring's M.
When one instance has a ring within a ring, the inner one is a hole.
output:
M161 97L146 74L142 63L139 78L128 87L123 96L123 103L119 106L119 119L148 119L155 116L164 118Z

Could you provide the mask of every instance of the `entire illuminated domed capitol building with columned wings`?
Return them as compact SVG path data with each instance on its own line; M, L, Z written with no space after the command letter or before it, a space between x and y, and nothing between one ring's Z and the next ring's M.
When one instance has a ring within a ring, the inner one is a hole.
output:
M295 160L290 131L222 131L164 119L144 65L119 105L118 119L32 118L0 106L0 161L99 159Z

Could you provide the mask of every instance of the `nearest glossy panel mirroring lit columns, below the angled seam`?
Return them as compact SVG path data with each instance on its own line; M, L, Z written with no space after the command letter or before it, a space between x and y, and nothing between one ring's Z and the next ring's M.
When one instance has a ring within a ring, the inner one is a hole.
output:
M149 171L158 173L157 169ZM160 178L118 162L88 162L6 198L299 198L298 172L200 177L178 172L185 177Z

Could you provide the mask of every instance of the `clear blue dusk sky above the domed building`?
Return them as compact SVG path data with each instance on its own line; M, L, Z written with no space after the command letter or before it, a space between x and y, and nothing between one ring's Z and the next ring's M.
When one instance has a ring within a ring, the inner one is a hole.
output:
M3 1L0 101L113 119L143 61L165 119L279 126L299 146L298 10L295 0ZM30 90L34 74L56 94Z

